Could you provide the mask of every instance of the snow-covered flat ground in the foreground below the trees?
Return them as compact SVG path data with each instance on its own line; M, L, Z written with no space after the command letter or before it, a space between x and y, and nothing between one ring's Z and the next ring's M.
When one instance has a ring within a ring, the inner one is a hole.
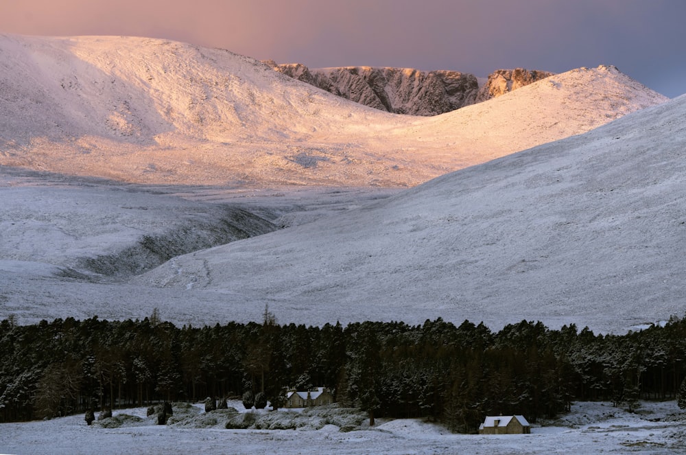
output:
M238 403L230 403L241 412ZM282 412L282 411L278 411ZM145 417L145 408L115 410ZM683 454L686 415L675 401L643 402L630 414L608 403L582 402L571 413L531 434L451 434L417 419L379 419L374 428L340 432L335 425L320 430L224 430L142 425L88 427L84 415L27 423L5 423L0 429L4 454Z

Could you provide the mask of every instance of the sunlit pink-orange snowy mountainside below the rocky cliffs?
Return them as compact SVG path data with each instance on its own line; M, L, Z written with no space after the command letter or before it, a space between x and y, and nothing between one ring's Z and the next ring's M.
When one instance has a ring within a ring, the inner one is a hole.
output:
M427 119L165 40L5 35L0 56L0 165L130 183L412 186L666 100L599 67Z

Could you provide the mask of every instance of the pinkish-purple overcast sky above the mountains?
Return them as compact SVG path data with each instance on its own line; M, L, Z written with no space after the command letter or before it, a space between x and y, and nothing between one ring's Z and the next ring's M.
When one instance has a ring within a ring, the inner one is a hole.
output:
M615 65L686 93L686 0L0 0L0 33L132 35L311 68Z

